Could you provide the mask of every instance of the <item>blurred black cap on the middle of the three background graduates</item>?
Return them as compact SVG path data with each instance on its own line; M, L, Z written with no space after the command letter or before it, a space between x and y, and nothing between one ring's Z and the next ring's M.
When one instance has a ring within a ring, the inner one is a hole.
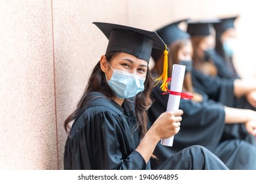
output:
M191 36L208 36L211 35L211 27L219 22L218 19L211 20L190 20L187 25L187 33Z

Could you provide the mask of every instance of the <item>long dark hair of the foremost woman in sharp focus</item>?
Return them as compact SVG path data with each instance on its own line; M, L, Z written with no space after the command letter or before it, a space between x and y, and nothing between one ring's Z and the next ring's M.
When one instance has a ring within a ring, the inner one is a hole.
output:
M109 52L105 54L105 57L107 61L111 63L111 61L119 54L120 52ZM150 94L153 89L153 84L154 84L153 77L151 76L151 73L148 68L147 76L144 83L145 89L143 90L143 92L138 93L135 97L135 113L137 117L137 125L141 131L141 138L144 137L145 133L147 132L147 110L152 103ZM101 71L100 61L96 64L96 66L92 70L92 74L88 80L84 93L82 94L82 97L79 100L79 103L77 104L77 108L64 121L64 128L67 133L71 129L71 126L69 125L69 123L79 117L79 111L83 109L82 107L88 101L87 95L90 92L103 93L103 95L105 95L108 99L111 99L111 100L114 100L116 97L113 90L109 88L109 85L105 78L105 73Z

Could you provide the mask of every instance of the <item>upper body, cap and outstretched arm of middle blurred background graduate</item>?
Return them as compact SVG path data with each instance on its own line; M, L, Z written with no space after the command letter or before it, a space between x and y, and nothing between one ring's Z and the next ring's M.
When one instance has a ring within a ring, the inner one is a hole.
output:
M228 107L250 108L255 107L236 103L240 97L244 97L256 90L256 80L240 78L220 78L217 76L217 67L212 55L215 42L211 34L213 26L210 21L190 21L187 32L191 35L193 50L192 82L196 88L206 92L215 101L221 102ZM209 52L211 54L209 54ZM256 101L256 99L255 99ZM253 104L254 105L254 104Z

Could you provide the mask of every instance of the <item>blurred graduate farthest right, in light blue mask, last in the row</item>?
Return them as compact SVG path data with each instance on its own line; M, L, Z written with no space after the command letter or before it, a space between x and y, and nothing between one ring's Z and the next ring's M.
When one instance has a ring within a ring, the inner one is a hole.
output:
M215 29L215 50L218 75L221 78L241 78L236 71L233 63L233 54L237 51L236 29L234 21L238 16L221 18L220 22L213 24ZM223 72L224 71L224 72ZM247 103L248 101L248 103ZM247 93L246 97L240 97L236 100L236 106L250 108L249 104L256 108L256 90Z

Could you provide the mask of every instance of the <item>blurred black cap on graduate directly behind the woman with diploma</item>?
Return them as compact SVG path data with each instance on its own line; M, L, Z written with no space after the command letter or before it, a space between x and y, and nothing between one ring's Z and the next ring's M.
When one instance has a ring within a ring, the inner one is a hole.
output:
M180 39L190 39L189 33L182 31L179 29L178 25L181 22L187 22L189 19L183 19L176 22L172 22L168 25L165 25L164 27L161 27L160 29L156 30L156 33L161 37L161 39L167 44L170 45L173 42L180 40ZM160 54L162 52L155 51L152 53L152 58L157 61Z

